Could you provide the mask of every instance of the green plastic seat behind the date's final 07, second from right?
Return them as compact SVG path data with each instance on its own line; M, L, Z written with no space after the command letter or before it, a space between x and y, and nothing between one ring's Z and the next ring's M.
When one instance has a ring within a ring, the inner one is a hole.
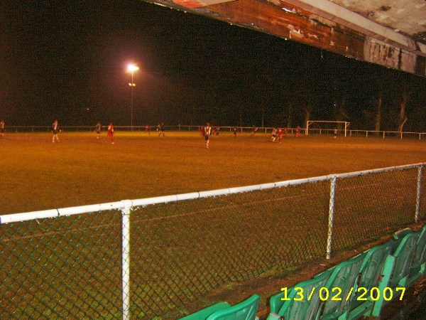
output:
M399 245L395 252L391 252L391 255L388 255L385 265L383 266L383 278L378 285L380 296L378 300L374 302L373 311L371 313L372 316L380 316L383 306L400 296L402 290L397 288L407 287L410 265L415 255L415 248L419 236L420 233L408 233L404 238L395 240L399 242ZM389 301L383 298L385 289L388 290L388 299L391 297ZM389 290L391 290L391 292L389 292Z

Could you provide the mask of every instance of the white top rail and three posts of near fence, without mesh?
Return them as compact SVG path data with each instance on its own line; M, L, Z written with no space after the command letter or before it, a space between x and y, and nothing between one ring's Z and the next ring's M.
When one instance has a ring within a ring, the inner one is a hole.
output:
M126 200L118 201L113 203L101 203L96 205L89 206L77 206L71 208L59 208L52 210L40 210L27 213L13 213L9 215L0 215L0 225L7 223L18 223L28 220L37 220L41 218L58 218L60 216L67 215L78 215L82 213L92 213L99 212L104 210L120 210L121 211L121 284L122 284L122 314L123 319L130 319L130 216L132 208L149 206L158 203L170 203L175 201L183 200L195 200L200 198L214 197L214 196L224 196L231 195L234 193L245 193L248 191L261 191L265 189L278 188L278 187L288 187L295 185L302 185L304 183L314 183L319 181L330 181L330 191L329 191L329 212L328 212L328 230L327 230L327 247L324 248L324 253L327 259L332 255L332 241L333 241L333 232L334 232L334 206L335 206L335 195L336 195L336 186L339 179L350 178L355 176L364 176L367 174L379 174L388 171L398 171L403 169L418 169L417 174L417 183L416 183L416 198L415 198L415 212L413 213L413 222L418 223L420 220L420 206L421 206L421 197L422 197L422 168L425 166L423 164L411 164L406 166L393 166L383 169L374 169L374 170L365 170L365 171L356 171L346 174L333 174L329 176L319 176L315 178L303 178L291 181L280 181L276 183L264 183L254 186L243 186L237 188L223 188L213 191L202 191L202 192L193 192L193 193L184 193L173 196L160 196L155 198L142 198L136 200Z

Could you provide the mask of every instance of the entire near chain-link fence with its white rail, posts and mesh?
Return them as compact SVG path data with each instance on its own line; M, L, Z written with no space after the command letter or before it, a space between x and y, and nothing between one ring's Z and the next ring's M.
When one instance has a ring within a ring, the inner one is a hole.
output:
M176 319L226 284L355 247L414 223L416 212L425 219L425 176L413 165L2 215L0 313Z

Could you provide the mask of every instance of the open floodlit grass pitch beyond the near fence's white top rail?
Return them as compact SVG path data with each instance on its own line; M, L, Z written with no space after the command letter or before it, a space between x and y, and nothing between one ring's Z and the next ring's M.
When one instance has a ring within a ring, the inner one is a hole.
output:
M0 140L0 214L83 206L338 174L426 161L426 142L411 139L227 132L210 149L197 132L6 134Z

